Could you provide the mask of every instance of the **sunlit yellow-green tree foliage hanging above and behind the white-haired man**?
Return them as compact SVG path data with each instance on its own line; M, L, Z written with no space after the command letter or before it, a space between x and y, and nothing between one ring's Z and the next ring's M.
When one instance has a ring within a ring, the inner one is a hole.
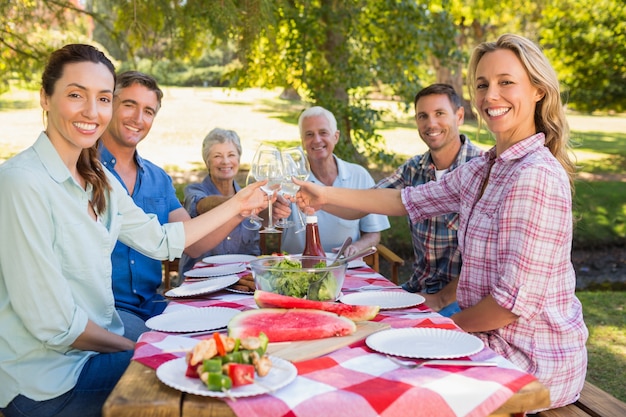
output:
M276 2L274 20L256 31L231 27L241 67L237 86L292 87L331 110L341 140L336 152L364 162L384 157L376 132L380 111L366 100L384 85L411 101L429 56L453 50L453 28L439 7L395 0ZM436 47L435 47L436 46Z

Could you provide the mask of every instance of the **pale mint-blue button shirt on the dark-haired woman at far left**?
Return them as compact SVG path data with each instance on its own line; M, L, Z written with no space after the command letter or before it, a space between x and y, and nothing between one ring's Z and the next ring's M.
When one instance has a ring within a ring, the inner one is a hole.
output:
M71 347L88 319L124 333L111 289L118 238L160 259L183 251L182 223L161 226L104 171L112 189L94 221L91 187L72 178L44 133L0 166L0 407L72 389L96 354Z

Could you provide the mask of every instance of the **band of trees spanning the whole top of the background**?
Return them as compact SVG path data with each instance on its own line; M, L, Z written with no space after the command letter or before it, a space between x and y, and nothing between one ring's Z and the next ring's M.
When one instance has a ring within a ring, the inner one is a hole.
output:
M99 43L120 70L165 85L224 74L235 87L297 91L337 115L342 157L384 160L371 98L409 108L434 81L461 92L472 48L504 32L546 48L572 108L623 110L624 9L623 0L9 0L0 4L0 92L38 79L63 43Z

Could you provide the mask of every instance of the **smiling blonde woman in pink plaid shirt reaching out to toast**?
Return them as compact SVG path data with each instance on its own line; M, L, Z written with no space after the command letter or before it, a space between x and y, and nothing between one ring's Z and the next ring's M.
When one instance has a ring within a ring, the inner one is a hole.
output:
M343 216L459 213L463 267L452 316L467 332L573 403L585 382L588 337L571 262L569 131L555 71L512 34L480 44L468 71L472 102L495 146L432 181L400 190L301 183L301 206ZM346 210L347 209L347 210Z

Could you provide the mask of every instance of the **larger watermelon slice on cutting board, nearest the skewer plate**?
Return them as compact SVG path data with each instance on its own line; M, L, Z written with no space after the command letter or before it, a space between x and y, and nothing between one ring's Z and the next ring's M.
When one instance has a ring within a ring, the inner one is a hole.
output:
M228 323L230 337L243 339L263 332L270 342L323 339L355 331L356 324L350 319L328 311L301 308L242 311Z

